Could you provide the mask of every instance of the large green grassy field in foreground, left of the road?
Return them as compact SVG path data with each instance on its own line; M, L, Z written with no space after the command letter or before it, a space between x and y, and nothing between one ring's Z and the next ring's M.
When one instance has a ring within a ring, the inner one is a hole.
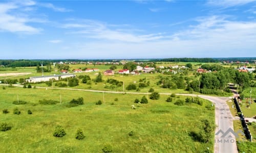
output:
M29 104L14 105L12 101L26 100ZM38 100L46 98L62 99L62 104L39 105ZM67 108L72 98L83 97L84 105ZM214 110L210 105L186 104L176 106L167 103L167 95L159 100L149 100L148 104L136 110L134 99L142 95L104 94L104 104L95 105L102 93L70 91L58 89L0 89L0 122L12 124L12 129L0 132L1 152L102 152L105 144L112 146L113 152L201 152L209 147L213 151L214 138L208 143L194 141L189 133L199 132L201 120L214 122ZM114 99L118 98L118 101ZM185 97L181 96L184 99ZM176 98L178 99L178 98ZM173 100L175 101L175 99ZM113 103L113 104L112 104ZM18 108L20 115L14 115ZM3 114L8 109L10 113ZM27 111L31 110L32 115ZM53 137L56 125L62 125L67 135ZM76 140L75 133L81 128L86 138ZM133 131L134 136L128 133Z

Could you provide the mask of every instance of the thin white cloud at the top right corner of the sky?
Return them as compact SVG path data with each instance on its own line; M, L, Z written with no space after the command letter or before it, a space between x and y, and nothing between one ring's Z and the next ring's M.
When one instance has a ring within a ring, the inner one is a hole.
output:
M245 5L251 2L255 2L256 0L208 0L207 4L218 7L233 7Z

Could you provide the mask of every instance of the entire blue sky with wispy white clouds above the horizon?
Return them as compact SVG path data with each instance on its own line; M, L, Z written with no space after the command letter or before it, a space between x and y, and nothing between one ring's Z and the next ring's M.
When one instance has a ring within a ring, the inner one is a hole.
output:
M256 57L256 0L0 1L0 59Z

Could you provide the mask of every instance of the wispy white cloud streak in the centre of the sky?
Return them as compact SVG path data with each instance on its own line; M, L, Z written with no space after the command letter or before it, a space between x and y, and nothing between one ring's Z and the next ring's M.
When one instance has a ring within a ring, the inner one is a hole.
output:
M121 25L122 26L122 25ZM124 42L143 42L153 41L165 38L163 33L155 34L135 34L131 29L119 28L118 25L103 23L95 20L83 20L82 22L66 23L62 25L62 28L72 29L70 34L82 35L83 37L112 40L112 41L124 41Z

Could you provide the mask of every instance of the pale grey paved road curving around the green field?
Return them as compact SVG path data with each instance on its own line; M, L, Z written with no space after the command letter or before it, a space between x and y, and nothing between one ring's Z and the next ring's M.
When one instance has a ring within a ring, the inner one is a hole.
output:
M22 85L13 85L17 87L23 87ZM71 89L71 88L51 88L51 87L36 87L36 88L49 88L49 89L63 89L63 90L79 90L79 91L88 91L88 92L105 92L105 93L126 93L126 94L148 94L148 93L138 93L138 92L120 92L120 91L102 91L102 90L87 90L87 89ZM164 95L170 95L171 93L160 93ZM228 129L233 130L233 116L229 110L229 107L226 103L228 100L227 97L214 97L207 95L192 95L192 94L178 94L178 95L187 95L187 96L199 96L201 98L207 99L215 104L215 122L216 122L216 130L215 134L222 130L224 133ZM238 153L236 138L234 136L232 138L220 138L222 134L215 135L215 146L214 152L216 153ZM230 135L230 134L229 134ZM228 136L229 136L228 135ZM227 137L228 137L227 136ZM230 141L230 140L235 140Z

